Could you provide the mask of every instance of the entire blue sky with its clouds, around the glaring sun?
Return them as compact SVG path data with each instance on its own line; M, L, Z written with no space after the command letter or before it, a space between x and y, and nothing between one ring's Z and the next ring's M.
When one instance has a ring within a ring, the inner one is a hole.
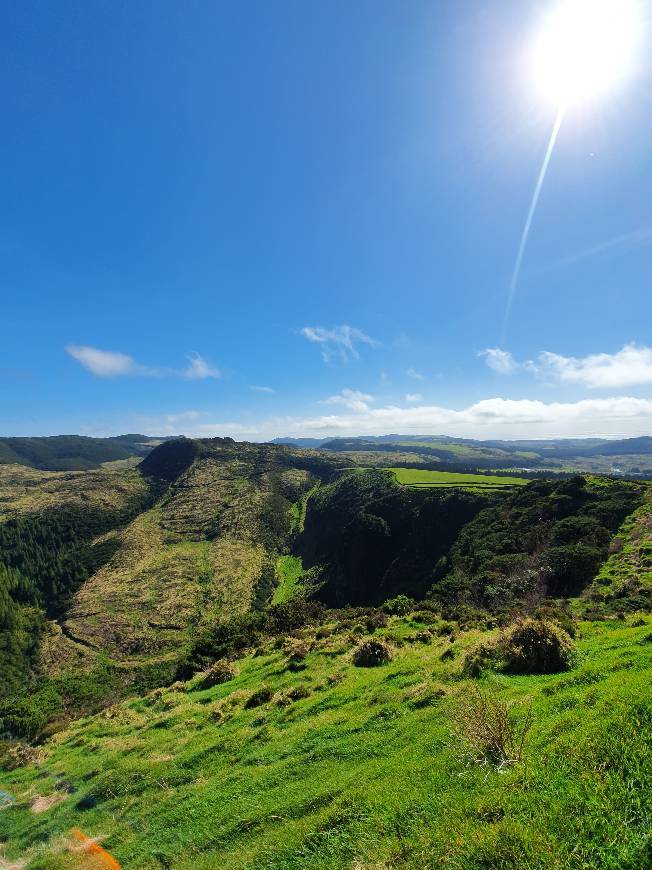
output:
M547 5L0 3L0 432L651 432L647 20L502 334Z

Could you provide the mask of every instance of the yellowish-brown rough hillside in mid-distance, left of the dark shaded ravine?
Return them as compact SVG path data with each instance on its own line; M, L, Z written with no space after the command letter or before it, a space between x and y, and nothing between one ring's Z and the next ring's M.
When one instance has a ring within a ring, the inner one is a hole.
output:
M302 495L314 485L291 459L289 467L278 465L288 456L280 447L204 443L156 506L120 533L120 549L75 595L64 634L45 644L50 669L69 665L73 652L93 659L101 649L118 661L165 656L201 619L250 609L277 558L270 529L278 524L289 532L293 499L302 522ZM274 516L272 497L278 499Z

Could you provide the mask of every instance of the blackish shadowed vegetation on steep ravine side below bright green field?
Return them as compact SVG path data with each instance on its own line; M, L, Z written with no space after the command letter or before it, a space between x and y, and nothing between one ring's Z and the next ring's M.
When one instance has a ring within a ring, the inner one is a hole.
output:
M296 542L306 568L321 568L317 595L331 606L422 597L463 526L495 497L414 491L379 469L349 472L311 497Z

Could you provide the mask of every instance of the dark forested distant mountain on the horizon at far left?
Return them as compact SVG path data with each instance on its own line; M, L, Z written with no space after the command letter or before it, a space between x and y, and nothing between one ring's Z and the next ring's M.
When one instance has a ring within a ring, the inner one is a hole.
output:
M0 465L18 463L41 471L87 471L103 462L147 456L165 438L117 435L53 435L43 438L0 438Z

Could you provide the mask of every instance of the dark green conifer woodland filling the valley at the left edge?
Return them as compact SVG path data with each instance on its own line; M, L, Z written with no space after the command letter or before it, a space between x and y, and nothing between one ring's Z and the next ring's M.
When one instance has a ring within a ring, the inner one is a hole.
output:
M0 723L4 731L34 736L70 702L62 688L66 680L57 688L41 667L39 646L48 630L47 620L65 615L75 591L116 551L117 540L102 537L103 533L127 523L156 492L157 484L151 481L120 509L68 503L36 514L17 514L0 523ZM94 680L97 700L104 702L106 685Z

